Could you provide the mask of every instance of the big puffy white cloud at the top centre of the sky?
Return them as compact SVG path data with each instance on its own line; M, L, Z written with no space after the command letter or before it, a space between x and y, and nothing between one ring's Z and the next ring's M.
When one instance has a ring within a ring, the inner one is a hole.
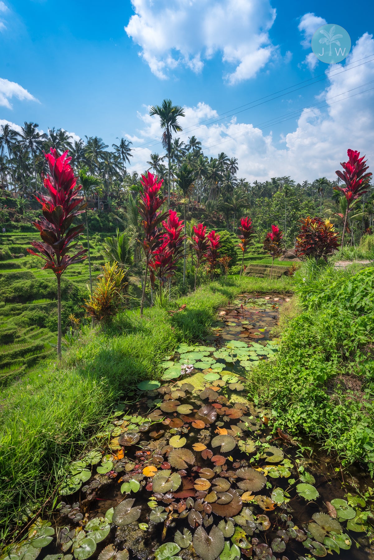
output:
M270 0L132 0L135 15L125 31L141 46L151 71L166 79L184 65L201 72L216 53L235 68L234 84L255 76L273 52L268 31L275 19Z

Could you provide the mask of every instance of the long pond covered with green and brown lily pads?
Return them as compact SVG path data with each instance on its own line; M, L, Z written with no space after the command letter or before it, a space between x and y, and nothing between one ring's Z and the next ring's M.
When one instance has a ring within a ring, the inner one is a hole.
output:
M360 474L343 480L333 458L273 432L272 410L246 399L246 373L277 353L270 330L285 299L240 296L207 343L165 357L161 381L119 403L105 443L70 465L49 519L6 557L373 558Z

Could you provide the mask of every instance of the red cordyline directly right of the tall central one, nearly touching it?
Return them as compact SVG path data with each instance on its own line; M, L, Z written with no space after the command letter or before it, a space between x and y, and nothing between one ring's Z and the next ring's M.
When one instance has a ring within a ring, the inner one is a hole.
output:
M156 278L160 283L160 299L165 282L174 276L177 262L183 257L184 241L184 236L181 235L184 223L183 220L179 220L175 210L169 210L169 217L162 225L166 230L162 237L162 245L152 252L148 263L152 286L155 287Z

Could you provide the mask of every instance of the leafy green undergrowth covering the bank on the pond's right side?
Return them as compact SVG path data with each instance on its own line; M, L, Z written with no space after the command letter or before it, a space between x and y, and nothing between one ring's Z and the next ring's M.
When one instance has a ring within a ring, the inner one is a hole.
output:
M260 363L249 392L271 405L281 428L372 473L374 268L313 268L297 273L277 361Z

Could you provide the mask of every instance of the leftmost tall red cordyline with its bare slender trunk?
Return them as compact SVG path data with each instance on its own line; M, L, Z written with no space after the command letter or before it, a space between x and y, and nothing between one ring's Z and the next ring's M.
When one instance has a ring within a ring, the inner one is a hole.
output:
M77 194L81 186L76 188L77 180L74 177L67 151L62 156L58 156L54 148L50 148L50 153L45 157L48 161L49 174L44 178L44 187L48 195L36 193L35 198L41 204L39 220L32 224L40 231L42 241L31 241L31 245L39 251L35 253L32 249L27 249L31 255L40 256L46 261L43 269L52 269L57 278L57 314L58 314L58 334L57 334L57 353L61 358L61 275L71 264L82 262L86 256L87 249L78 251L73 256L68 255L68 250L73 249L76 243L72 241L78 237L85 228L79 225L69 229L73 220L78 214L84 212L86 204Z

